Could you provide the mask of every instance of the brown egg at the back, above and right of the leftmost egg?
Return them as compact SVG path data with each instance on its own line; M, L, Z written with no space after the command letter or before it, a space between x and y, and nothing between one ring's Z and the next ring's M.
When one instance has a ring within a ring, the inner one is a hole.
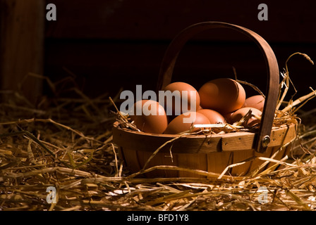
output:
M185 82L174 82L165 86L162 91L165 91L164 108L166 110L166 115L181 115L188 111L196 111L197 108L200 107L200 96L197 90L190 84ZM179 95L171 97L172 93L174 93L174 95L176 94L174 91L179 91ZM193 108L191 108L191 105Z

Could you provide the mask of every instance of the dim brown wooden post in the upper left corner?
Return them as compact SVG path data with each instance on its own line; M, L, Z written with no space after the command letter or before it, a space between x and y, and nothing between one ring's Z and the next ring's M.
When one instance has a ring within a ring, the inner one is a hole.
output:
M0 88L17 91L31 103L42 93L45 1L0 0ZM6 99L6 95L2 96Z

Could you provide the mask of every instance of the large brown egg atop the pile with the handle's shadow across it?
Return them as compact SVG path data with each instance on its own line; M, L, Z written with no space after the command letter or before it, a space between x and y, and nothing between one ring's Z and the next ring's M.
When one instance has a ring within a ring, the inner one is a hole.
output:
M245 89L229 78L213 79L198 91L202 108L216 110L222 115L238 110L245 103Z

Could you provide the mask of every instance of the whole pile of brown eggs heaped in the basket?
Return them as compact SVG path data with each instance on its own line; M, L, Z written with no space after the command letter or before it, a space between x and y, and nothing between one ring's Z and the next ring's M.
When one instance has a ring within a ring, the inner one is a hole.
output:
M147 107L154 107L157 110L155 115L130 115L131 121L140 131L151 134L178 134L188 131L193 124L233 124L241 120L249 110L252 111L252 117L243 124L244 127L251 127L260 121L253 115L260 116L262 114L265 98L261 95L246 98L243 86L233 79L219 78L213 79L203 84L199 91L193 86L184 82L174 82L162 91L195 91L195 109L176 114L174 110L172 115L166 114L167 105L159 105L159 102L152 100L141 100L135 103L141 107L147 104ZM183 96L181 95L181 98ZM194 98L193 98L194 99ZM188 106L190 106L190 96L188 96ZM170 106L170 105L169 105ZM172 107L172 106L171 106ZM193 114L193 115L192 115ZM183 122L183 118L187 121ZM194 119L191 119L194 118ZM188 120L192 120L189 121ZM193 131L198 131L196 128Z

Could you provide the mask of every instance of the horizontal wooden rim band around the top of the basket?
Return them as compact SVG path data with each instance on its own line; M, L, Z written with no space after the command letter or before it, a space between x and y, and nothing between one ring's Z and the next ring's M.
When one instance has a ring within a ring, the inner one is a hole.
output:
M297 137L295 123L282 124L272 129L269 148L281 147L291 143ZM212 153L234 150L255 150L257 133L237 131L227 134L150 134L113 126L113 141L119 148L130 148L141 151L154 152L161 148L161 152L172 153ZM172 141L174 140L174 141Z

